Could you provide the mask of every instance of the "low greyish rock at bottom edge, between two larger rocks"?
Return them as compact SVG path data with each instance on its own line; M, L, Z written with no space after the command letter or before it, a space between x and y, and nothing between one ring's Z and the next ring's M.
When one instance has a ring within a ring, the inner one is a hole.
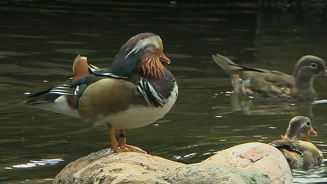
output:
M267 175L258 171L245 170L215 163L197 163L181 166L166 176L174 184L271 184Z

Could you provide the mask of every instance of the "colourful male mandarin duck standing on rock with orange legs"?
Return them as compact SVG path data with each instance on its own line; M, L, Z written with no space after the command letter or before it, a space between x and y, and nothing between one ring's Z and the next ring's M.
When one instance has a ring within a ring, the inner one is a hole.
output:
M106 125L115 152L142 149L126 144L125 129L151 124L165 116L174 105L178 86L162 65L170 63L162 52L160 37L141 33L130 38L113 58L109 68L87 63L77 56L74 77L58 86L29 96L24 104L81 118L93 125ZM120 139L115 138L115 129Z

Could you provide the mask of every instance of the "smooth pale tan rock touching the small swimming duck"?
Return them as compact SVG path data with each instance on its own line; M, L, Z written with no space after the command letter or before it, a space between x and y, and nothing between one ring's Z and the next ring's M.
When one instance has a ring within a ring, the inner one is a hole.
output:
M273 183L293 183L291 169L283 154L264 143L245 143L205 159L210 162L265 173Z

